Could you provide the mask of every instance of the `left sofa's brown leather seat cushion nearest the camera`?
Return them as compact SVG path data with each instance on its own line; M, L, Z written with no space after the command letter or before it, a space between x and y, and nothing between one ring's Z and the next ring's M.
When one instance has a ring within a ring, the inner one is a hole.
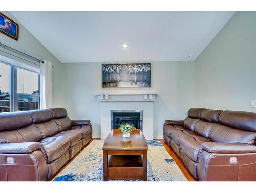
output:
M44 145L48 163L53 162L67 152L70 141L67 137L46 137L40 141Z

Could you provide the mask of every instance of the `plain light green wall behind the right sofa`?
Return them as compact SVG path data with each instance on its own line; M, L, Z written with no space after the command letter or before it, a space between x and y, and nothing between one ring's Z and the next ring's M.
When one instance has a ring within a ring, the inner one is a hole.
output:
M195 103L256 112L256 12L237 12L195 61Z

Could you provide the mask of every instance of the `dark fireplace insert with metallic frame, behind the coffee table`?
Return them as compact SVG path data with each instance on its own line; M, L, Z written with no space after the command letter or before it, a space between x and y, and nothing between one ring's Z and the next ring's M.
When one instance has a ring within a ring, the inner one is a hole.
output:
M142 131L142 110L111 110L111 130L125 123L133 124Z

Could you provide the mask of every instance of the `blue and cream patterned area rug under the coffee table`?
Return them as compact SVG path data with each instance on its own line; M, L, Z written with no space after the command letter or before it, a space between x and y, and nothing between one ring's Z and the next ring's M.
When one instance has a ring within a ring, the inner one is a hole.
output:
M93 140L53 181L103 181L103 143ZM160 141L147 144L148 181L187 181Z

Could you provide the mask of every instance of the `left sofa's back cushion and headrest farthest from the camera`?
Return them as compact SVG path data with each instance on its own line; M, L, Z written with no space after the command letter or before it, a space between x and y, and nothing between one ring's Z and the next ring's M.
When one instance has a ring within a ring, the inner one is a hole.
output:
M65 108L51 108L50 110L59 131L71 129L71 120L67 117L68 113Z

